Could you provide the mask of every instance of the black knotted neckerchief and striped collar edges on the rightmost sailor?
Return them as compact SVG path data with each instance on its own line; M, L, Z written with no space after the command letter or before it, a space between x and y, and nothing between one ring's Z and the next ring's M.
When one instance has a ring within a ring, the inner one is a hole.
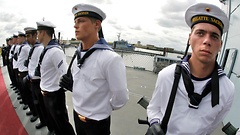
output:
M190 108L198 108L198 105L200 104L202 98L204 98L208 93L212 92L211 94L211 102L212 102L212 107L215 105L219 104L219 78L223 75L225 75L220 67L218 66L217 62L215 62L215 67L214 70L211 74L211 80L207 82L207 85L203 92L200 94L194 92L194 85L191 81L190 77L190 67L188 60L191 56L187 56L183 59L183 62L181 63L181 66L183 67L183 82L185 85L185 88L188 92L188 97L189 97L189 107Z

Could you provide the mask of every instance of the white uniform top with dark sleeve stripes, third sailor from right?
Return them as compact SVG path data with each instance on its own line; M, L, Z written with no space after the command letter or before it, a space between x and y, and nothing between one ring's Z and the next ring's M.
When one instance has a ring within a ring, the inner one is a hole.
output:
M67 66L66 56L62 49L58 47L48 49L40 68L40 88L48 92L58 91L60 78L67 73Z

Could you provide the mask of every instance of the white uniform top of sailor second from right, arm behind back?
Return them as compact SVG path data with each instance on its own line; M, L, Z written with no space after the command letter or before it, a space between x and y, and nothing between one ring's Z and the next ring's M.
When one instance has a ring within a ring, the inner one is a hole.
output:
M75 58L72 75L74 110L85 117L105 119L129 99L126 68L122 58L113 51L95 50L81 69Z

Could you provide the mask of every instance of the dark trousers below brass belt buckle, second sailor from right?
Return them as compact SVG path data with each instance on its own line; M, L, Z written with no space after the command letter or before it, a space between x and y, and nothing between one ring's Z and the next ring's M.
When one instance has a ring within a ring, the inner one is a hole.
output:
M81 121L75 111L73 111L73 116L77 135L110 135L110 116L104 120L87 122Z

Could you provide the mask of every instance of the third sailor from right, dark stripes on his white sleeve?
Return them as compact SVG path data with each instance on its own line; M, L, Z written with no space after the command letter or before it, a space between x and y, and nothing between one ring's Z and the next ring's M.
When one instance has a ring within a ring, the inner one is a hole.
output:
M40 55L39 67L36 68L35 76L41 76L40 88L43 101L55 133L57 135L74 135L73 127L68 119L65 91L59 87L60 77L67 72L68 65L63 50L53 40L54 28L55 25L50 21L37 22L38 41L45 48ZM53 130L50 130L49 133L53 133Z

